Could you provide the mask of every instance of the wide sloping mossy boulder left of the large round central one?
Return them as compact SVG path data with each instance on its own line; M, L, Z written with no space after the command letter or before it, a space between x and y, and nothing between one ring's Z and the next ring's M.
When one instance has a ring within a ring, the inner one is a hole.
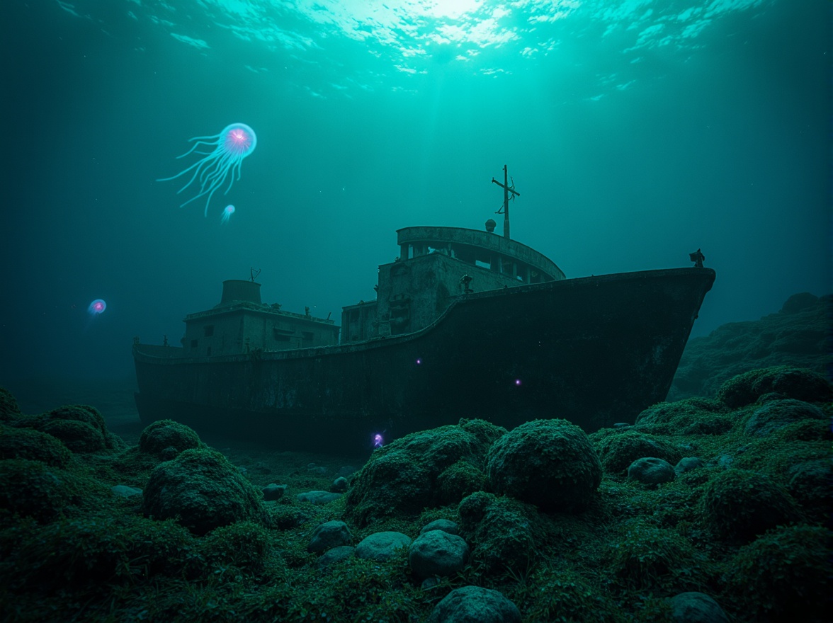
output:
M347 517L367 526L382 517L417 516L426 507L460 501L481 481L477 472L501 432L506 429L486 421L461 420L379 448L347 491Z

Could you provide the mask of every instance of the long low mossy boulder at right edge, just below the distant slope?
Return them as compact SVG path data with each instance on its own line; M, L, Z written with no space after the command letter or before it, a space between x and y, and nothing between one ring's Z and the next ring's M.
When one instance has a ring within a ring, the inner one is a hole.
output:
M805 368L775 366L733 376L717 391L717 398L733 409L751 405L760 396L775 392L806 402L828 402L833 386L818 372Z

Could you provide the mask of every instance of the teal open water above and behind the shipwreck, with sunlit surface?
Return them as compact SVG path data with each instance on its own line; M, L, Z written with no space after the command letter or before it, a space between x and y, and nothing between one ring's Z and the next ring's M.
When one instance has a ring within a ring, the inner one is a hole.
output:
M826 294L830 28L827 0L9 0L0 379L130 376L252 269L340 323L398 228L500 231L504 164L512 237L567 277L701 248L694 336ZM230 187L158 181L232 123Z

